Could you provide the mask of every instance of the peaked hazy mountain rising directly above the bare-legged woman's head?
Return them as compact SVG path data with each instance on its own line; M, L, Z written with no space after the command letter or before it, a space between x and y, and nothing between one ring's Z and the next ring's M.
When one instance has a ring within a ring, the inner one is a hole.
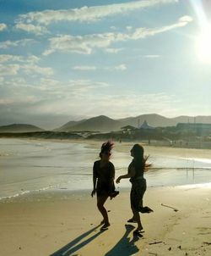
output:
M117 131L122 127L122 123L118 120L112 120L111 118L100 115L89 120L84 120L76 125L63 125L65 127L62 131ZM61 127L61 128L62 128ZM59 128L59 129L61 129Z

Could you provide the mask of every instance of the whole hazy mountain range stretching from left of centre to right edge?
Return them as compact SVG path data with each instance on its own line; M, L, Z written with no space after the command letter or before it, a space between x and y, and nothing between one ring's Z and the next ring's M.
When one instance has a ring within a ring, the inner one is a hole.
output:
M121 127L132 125L138 128L138 125L143 124L144 121L152 127L166 127L175 126L178 123L205 123L211 124L211 116L178 116L176 118L166 118L160 114L142 114L136 117L127 117L120 120L113 120L105 115L96 116L88 120L70 121L57 131L119 131Z

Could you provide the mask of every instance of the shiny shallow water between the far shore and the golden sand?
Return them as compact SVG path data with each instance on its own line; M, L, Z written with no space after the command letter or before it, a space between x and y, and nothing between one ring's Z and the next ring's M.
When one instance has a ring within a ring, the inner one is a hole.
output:
M0 139L0 198L46 189L92 189L92 166L99 150L71 142ZM181 149L182 150L182 149ZM146 152L147 153L147 152ZM116 177L127 172L132 158L114 150ZM162 148L151 155L148 186L176 186L211 182L211 159L165 157ZM124 180L116 187L130 186Z

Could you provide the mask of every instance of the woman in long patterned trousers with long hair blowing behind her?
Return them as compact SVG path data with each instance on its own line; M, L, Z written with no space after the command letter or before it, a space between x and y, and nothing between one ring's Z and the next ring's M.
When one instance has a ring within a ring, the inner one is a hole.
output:
M127 175L121 175L116 179L116 183L119 183L122 179L130 178L132 183L130 201L131 209L133 211L133 218L127 220L128 222L138 223L138 227L134 234L139 234L143 230L139 212L151 213L153 212L148 206L143 207L143 194L146 191L147 185L146 180L143 178L143 172L148 169L150 164L146 161L148 157L143 156L143 147L139 144L135 144L131 149L131 156L133 161L128 166Z

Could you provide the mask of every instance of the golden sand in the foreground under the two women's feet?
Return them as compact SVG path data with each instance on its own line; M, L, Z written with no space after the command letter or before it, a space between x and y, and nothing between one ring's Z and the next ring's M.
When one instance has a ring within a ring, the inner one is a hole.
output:
M100 231L89 192L42 192L0 203L1 255L211 255L211 185L149 188L144 233L133 237L129 191L106 203L111 226ZM178 209L166 208L164 203Z

